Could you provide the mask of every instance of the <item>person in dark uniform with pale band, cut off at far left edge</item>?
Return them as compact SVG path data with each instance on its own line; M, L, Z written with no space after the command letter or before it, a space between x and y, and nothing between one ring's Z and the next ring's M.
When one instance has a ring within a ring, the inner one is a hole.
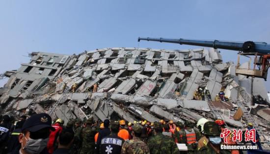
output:
M0 123L0 154L5 154L7 151L8 134L10 132L10 117L4 115Z

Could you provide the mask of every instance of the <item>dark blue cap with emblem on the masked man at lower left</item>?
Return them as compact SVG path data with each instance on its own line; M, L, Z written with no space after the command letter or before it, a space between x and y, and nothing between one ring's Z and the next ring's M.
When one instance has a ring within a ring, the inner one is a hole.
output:
M22 127L22 131L28 130L30 132L36 132L43 128L50 128L51 130L55 130L51 124L52 118L48 114L35 114L26 120Z

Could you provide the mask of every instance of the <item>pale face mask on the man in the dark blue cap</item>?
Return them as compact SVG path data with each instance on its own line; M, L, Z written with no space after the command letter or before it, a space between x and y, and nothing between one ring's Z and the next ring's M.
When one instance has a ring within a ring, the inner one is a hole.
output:
M49 138L47 139L27 139L24 135L24 138L27 140L26 146L23 147L23 150L26 151L28 154L39 154L41 153L44 148L47 147L47 143L49 141Z

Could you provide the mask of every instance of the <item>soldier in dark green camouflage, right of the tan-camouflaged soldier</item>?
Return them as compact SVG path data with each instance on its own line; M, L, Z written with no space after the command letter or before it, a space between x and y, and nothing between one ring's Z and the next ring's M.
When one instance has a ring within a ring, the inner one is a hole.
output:
M162 135L162 124L154 123L154 129L157 134L148 139L150 154L179 154L174 140Z

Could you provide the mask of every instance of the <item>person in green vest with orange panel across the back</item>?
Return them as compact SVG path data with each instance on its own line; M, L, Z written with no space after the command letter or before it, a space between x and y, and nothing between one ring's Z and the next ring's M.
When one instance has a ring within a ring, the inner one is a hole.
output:
M194 154L198 143L197 141L201 138L201 133L197 130L191 127L191 123L189 121L185 122L185 129L183 131L183 138L181 142L185 142L188 147L188 153Z

